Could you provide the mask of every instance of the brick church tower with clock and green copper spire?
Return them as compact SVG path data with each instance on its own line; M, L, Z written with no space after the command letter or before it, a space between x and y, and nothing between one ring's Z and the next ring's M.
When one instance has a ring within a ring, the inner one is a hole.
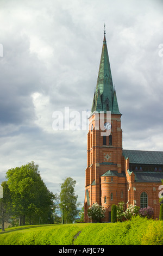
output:
M93 96L87 133L87 168L85 175L85 222L87 209L98 203L106 209L110 221L111 205L126 198L126 178L122 172L121 113L112 83L108 48L104 32L97 86ZM123 197L123 199L122 199Z

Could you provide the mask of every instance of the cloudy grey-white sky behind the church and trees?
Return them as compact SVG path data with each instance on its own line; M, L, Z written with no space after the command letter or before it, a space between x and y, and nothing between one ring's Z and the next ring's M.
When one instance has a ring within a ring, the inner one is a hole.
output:
M162 0L0 1L0 182L34 161L53 193L76 180L83 205L87 129L74 116L85 124L91 110L104 24L123 149L163 151L162 11ZM66 111L70 129L54 129Z

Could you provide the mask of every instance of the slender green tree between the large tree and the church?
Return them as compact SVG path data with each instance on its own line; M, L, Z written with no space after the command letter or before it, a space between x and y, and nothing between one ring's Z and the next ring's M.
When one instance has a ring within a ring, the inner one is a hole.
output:
M61 212L64 211L64 223L72 223L79 212L77 208L80 203L77 202L78 196L76 196L74 192L75 185L76 180L73 180L70 177L64 179L64 182L61 183L59 207Z

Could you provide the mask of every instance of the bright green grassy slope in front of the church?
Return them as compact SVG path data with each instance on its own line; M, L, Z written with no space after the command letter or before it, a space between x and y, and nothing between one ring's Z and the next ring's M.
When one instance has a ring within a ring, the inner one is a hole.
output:
M0 245L163 245L163 221L31 225L0 232Z

